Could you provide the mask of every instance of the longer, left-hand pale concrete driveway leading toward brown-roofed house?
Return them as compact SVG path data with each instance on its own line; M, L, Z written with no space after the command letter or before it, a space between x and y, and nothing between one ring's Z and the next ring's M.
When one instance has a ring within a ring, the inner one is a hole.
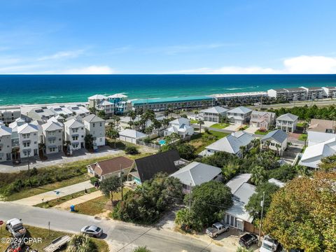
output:
M58 197L63 197L66 195L71 195L73 193L78 193L82 190L85 190L85 188L86 189L93 188L92 183L90 183L90 181L84 181L82 183L77 183L75 185L66 186L64 188L59 188L57 190L52 190L47 193L41 193L39 195L34 195L21 200L15 200L14 203L23 204L26 206L34 206L36 204L42 203L42 200L43 202L47 202L49 200L57 199L56 192L59 192Z

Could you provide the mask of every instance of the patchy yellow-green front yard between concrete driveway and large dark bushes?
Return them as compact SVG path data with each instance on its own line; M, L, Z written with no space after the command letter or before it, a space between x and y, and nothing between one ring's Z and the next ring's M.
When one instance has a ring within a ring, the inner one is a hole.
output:
M127 193L128 190L130 189L124 188L123 190L124 195L125 193ZM113 201L120 199L121 199L121 193L113 193ZM93 200L77 204L75 206L75 210L76 213L78 214L95 216L97 214L102 214L105 211L112 210L111 200L105 196L97 197Z

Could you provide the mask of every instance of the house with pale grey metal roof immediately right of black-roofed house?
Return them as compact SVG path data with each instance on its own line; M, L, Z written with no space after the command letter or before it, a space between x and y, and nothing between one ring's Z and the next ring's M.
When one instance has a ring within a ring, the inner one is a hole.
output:
M190 191L190 186L200 186L202 183L221 179L221 168L206 165L200 162L191 162L170 176L181 181L183 189Z

